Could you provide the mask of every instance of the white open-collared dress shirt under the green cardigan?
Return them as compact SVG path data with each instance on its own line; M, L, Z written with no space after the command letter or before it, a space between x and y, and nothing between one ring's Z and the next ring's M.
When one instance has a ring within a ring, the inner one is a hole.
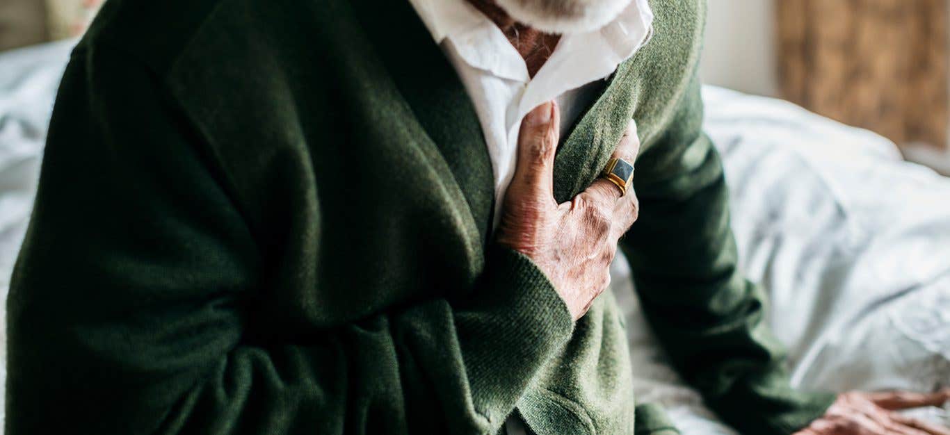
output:
M495 179L495 223L518 158L518 133L531 109L556 100L561 135L598 95L609 77L653 34L647 0L632 0L599 30L565 34L531 78L524 59L501 28L466 0L409 0L466 86L475 105ZM495 225L497 227L497 225Z

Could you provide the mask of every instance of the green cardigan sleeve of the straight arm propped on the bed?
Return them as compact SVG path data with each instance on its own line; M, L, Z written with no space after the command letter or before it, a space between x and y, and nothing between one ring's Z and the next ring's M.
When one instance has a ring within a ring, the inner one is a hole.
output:
M788 435L834 396L789 385L761 289L737 267L722 163L702 132L692 79L669 125L637 160L640 215L621 248L646 317L676 369L742 433Z

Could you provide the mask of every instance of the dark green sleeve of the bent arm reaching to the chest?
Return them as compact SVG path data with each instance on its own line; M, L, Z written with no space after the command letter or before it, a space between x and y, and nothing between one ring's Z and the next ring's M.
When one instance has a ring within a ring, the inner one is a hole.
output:
M12 277L7 434L494 434L569 339L501 247L477 297L250 337L264 260L199 136L148 68L86 49Z

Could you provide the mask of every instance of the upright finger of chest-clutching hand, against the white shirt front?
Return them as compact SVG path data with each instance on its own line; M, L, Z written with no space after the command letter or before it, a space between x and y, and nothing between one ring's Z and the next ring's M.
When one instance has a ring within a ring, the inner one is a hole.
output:
M518 134L518 162L509 189L554 200L554 155L560 136L558 104L547 102L524 116Z

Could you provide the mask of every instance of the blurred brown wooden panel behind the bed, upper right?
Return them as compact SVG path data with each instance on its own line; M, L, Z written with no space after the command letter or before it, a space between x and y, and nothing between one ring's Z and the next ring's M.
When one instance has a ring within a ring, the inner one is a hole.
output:
M776 0L783 97L947 148L947 0Z

